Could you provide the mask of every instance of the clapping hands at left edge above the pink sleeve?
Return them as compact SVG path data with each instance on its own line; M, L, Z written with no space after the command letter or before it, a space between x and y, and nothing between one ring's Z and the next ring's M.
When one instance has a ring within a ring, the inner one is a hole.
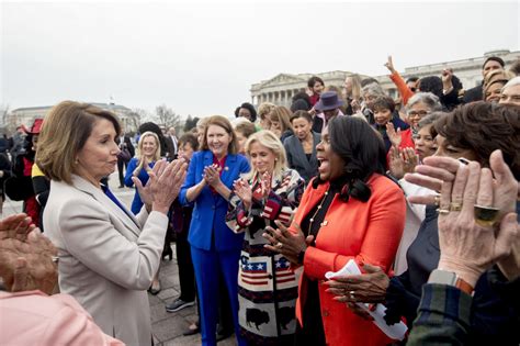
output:
M0 221L0 276L9 291L52 294L58 279L56 256L56 247L26 214Z

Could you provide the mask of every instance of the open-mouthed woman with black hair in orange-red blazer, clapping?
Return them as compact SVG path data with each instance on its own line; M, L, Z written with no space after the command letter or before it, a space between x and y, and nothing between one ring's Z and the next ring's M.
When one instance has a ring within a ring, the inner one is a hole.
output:
M349 259L391 269L405 225L405 197L384 177L383 141L363 120L334 119L316 146L319 175L307 187L292 226L264 236L303 265L296 315L297 345L386 345L375 324L355 315L323 284Z

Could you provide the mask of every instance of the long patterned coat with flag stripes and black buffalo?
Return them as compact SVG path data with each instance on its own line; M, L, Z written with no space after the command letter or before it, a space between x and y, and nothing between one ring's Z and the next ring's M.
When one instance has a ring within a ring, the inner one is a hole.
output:
M296 170L287 169L281 179L273 179L267 198L255 198L260 189L257 179L249 183L253 191L249 212L231 193L226 215L229 228L246 233L238 272L240 333L249 345L292 345L298 278L284 256L263 247L268 241L262 233L268 225L275 227L275 220L291 224L305 181Z

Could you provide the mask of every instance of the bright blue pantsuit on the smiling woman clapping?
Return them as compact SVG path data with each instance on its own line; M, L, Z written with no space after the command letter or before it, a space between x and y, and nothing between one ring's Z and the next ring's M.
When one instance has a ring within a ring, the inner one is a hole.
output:
M203 179L204 167L213 165L210 150L195 153L188 168L186 179L181 188L180 201L188 204L186 191ZM228 155L221 180L229 189L240 174L249 171L249 164L241 155ZM208 186L194 200L188 241L191 245L193 267L201 306L201 332L203 345L215 345L218 311L218 271L223 272L239 345L245 342L238 327L238 261L244 234L235 234L226 225L228 202Z

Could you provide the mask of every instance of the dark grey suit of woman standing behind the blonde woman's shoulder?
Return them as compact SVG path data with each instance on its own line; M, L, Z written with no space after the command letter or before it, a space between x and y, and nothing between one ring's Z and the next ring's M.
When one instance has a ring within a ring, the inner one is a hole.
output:
M318 118L319 119L319 118ZM310 178L318 174L318 160L316 159L316 145L319 143L319 134L313 132L313 154L310 160L307 159L298 137L291 136L283 142L285 154L287 155L289 167L295 169L299 176L308 182Z

